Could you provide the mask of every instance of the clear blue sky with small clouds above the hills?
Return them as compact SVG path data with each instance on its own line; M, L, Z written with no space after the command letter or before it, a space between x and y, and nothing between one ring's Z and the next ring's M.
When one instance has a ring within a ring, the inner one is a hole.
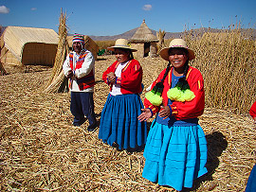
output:
M156 31L256 26L255 0L0 0L1 26L52 28L58 32L61 9L69 33L119 35L141 25Z

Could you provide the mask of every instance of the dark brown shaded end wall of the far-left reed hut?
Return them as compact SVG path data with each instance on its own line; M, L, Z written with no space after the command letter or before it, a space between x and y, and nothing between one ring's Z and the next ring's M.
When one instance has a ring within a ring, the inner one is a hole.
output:
M22 63L53 66L57 53L57 44L28 43L22 53Z

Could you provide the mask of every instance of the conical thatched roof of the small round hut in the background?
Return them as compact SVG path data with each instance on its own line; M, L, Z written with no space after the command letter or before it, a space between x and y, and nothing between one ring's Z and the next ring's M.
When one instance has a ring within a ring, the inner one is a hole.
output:
M137 28L136 33L130 39L131 43L152 43L158 42L158 39L152 33L151 29L146 25L145 20Z

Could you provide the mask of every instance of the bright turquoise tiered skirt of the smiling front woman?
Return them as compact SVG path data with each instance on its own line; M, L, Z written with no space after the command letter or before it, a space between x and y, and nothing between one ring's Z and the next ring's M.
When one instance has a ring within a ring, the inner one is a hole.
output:
M168 127L154 120L143 155L142 177L178 191L207 173L207 141L199 125Z

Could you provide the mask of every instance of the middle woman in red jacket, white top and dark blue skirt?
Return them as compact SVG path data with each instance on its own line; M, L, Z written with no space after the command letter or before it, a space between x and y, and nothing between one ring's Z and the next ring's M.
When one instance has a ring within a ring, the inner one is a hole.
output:
M101 112L99 138L110 146L135 150L143 147L147 138L146 122L137 119L143 108L139 96L142 68L133 59L132 52L137 50L127 40L117 40L108 50L115 52L117 61L102 75L110 93Z

